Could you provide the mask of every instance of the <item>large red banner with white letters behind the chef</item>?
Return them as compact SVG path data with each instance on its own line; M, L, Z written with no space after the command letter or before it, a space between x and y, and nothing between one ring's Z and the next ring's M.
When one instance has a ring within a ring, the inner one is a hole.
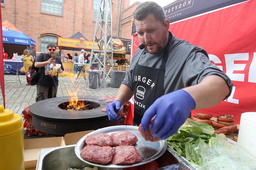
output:
M197 112L214 117L231 114L239 124L241 113L256 111L255 9L256 2L251 0L170 25L175 37L203 47L210 60L234 83L226 101ZM133 43L133 53L135 49Z

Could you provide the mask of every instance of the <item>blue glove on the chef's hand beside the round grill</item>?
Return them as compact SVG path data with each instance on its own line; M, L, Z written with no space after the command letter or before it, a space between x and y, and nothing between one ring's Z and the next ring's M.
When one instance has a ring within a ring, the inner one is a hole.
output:
M108 119L113 121L113 120L119 120L121 117L117 116L118 110L121 108L121 102L119 100L115 100L111 103L108 104L107 106L107 114L108 114Z

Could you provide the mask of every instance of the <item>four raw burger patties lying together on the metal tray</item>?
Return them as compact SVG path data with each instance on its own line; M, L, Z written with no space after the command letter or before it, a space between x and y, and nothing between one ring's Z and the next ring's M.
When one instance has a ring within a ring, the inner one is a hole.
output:
M111 136L98 133L85 138L85 147L80 154L84 160L100 164L134 164L142 161L133 146L136 142L137 137L129 131L112 133Z

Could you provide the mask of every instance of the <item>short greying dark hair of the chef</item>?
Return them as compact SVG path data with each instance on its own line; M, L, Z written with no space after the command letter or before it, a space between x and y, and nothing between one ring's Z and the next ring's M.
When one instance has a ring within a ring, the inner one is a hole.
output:
M148 14L153 14L156 20L164 24L164 19L166 19L164 8L155 2L143 2L132 13L133 18L138 21L145 19Z

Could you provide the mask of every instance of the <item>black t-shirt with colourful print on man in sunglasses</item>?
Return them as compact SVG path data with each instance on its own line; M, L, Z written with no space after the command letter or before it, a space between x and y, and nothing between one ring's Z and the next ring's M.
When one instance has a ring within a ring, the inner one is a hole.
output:
M44 56L45 55L45 56ZM36 62L44 62L50 59L50 55L47 54L40 54L36 59ZM43 86L57 86L59 85L58 81L58 72L56 71L56 64L61 64L60 68L64 70L62 66L62 62L60 58L56 57L56 62L47 64L44 67L39 68L39 78L37 84Z

